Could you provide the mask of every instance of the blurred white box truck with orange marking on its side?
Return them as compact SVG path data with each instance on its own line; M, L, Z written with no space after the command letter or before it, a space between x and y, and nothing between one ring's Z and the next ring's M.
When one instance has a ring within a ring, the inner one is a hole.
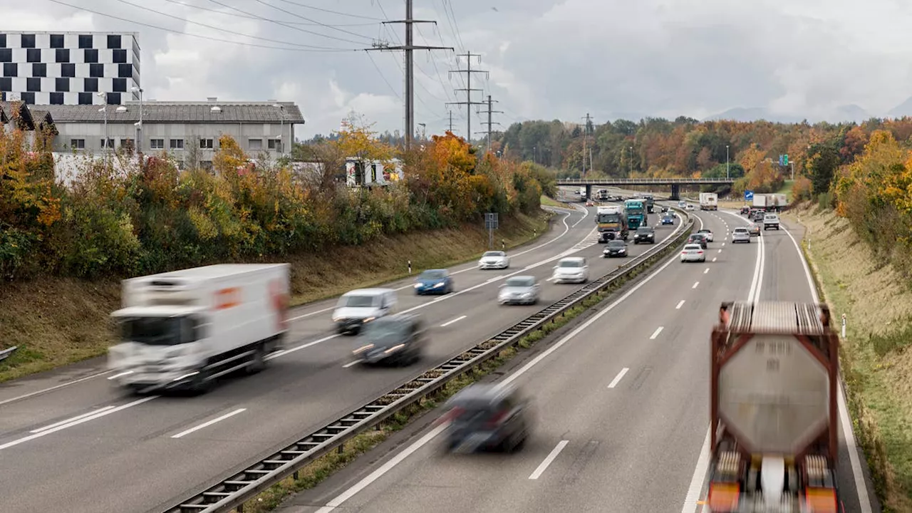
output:
M108 365L135 393L207 391L259 372L287 331L288 264L219 264L123 280Z

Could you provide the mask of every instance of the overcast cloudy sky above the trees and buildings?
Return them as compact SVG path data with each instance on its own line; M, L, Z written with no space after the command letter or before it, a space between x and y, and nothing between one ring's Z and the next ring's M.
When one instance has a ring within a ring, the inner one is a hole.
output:
M401 130L402 53L360 49L404 43L403 26L380 24L402 19L404 0L59 1L86 10L0 0L0 29L138 31L147 99L295 101L304 138L351 110ZM429 134L446 130L448 109L465 134L465 107L445 103L466 98L453 90L464 74L449 73L466 50L490 72L473 74L483 90L472 100L491 94L503 127L739 107L827 118L857 104L881 116L912 96L907 0L414 0L414 17L437 21L416 25L414 44L456 48L415 52L415 122ZM487 118L478 108L473 132Z

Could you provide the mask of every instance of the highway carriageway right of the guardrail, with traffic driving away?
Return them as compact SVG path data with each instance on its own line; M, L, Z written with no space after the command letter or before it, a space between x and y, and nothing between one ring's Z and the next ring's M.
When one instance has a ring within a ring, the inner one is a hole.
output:
M519 384L533 399L535 427L521 452L443 455L442 427L428 415L413 433L398 437L399 446L378 447L280 511L700 511L701 455L709 448L709 337L720 303L814 298L789 232L769 231L750 245L732 246L727 232L747 225L743 217L694 214L714 232L712 261L669 260L494 378ZM801 230L791 230L800 240ZM840 443L845 512L879 511L867 503L870 482L845 436Z

